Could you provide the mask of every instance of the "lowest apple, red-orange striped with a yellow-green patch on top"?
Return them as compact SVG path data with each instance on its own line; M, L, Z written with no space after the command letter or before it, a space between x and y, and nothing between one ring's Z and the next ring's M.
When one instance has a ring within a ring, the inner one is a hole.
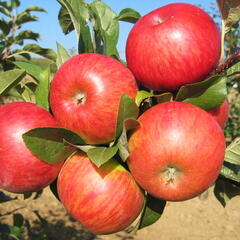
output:
M84 154L71 156L57 181L66 210L95 234L110 234L128 227L144 205L143 191L114 159L97 168Z

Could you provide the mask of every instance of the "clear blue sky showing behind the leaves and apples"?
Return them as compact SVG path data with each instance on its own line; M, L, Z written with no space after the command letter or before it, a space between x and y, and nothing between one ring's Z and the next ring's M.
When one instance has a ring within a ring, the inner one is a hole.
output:
M116 13L119 13L123 8L133 8L137 10L141 15L144 15L156 8L159 8L163 5L174 3L174 2L183 2L183 1L158 1L158 0L103 0L107 3ZM195 5L201 4L204 9L210 11L211 3L215 4L214 0L192 0L185 1ZM204 2L204 4L203 4ZM77 48L76 35L74 32L64 35L58 24L58 11L60 5L57 0L21 0L21 8L19 11L30 5L37 5L43 7L47 13L38 13L35 15L39 17L38 22L27 23L25 24L26 29L31 29L35 32L40 33L41 40L38 44L42 47L52 48L56 50L56 41L61 43L66 49ZM217 8L217 6L215 5ZM125 42L127 35L132 27L132 24L129 23L120 23L120 36L118 43L118 50L120 55L124 57Z

